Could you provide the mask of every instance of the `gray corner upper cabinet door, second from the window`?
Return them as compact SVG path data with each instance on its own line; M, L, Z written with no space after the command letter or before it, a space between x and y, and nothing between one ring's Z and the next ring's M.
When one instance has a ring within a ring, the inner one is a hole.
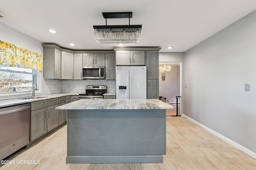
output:
M61 79L73 80L74 78L74 54L61 52Z

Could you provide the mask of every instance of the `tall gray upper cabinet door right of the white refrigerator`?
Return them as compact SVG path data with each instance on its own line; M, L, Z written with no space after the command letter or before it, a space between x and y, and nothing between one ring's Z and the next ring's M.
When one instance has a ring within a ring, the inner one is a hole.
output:
M158 79L159 78L159 52L158 51L147 51L147 78Z

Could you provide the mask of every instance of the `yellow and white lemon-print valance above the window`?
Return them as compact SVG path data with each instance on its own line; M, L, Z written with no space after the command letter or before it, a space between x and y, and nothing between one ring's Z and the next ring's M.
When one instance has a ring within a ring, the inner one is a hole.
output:
M43 55L0 40L0 64L43 70Z

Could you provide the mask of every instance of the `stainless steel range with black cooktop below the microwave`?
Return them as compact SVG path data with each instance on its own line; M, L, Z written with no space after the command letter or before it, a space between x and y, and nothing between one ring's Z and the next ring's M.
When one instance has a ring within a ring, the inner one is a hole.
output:
M79 94L78 99L103 99L107 86L85 86L85 93Z

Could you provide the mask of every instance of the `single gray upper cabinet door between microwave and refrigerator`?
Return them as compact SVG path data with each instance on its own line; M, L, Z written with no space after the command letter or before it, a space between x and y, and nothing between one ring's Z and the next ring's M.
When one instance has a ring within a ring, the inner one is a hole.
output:
M114 53L105 54L105 79L116 80L116 57Z

